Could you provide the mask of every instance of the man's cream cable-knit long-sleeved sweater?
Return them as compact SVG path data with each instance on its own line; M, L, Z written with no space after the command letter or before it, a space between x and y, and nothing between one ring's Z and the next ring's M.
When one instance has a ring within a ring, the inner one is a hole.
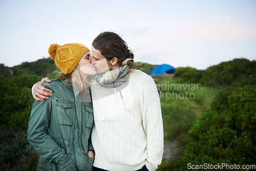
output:
M94 166L131 171L156 170L163 155L163 122L154 80L133 70L117 88L92 87Z

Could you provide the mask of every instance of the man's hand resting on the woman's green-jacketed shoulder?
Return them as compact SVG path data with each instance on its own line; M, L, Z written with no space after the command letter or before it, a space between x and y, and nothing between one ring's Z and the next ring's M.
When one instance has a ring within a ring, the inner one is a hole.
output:
M43 99L49 99L48 96L52 96L52 91L50 89L46 89L42 86L42 84L47 81L47 82L51 82L51 80L46 77L46 78L42 78L40 82L38 82L38 84L35 86L35 90L33 92L33 97L35 100L37 101L42 101Z

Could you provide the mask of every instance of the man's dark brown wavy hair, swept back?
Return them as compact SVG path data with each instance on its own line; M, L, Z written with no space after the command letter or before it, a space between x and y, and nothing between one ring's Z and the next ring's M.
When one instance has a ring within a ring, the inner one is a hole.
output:
M101 32L93 40L92 46L99 50L106 60L116 57L118 63L121 63L127 58L134 58L134 54L126 42L114 32Z

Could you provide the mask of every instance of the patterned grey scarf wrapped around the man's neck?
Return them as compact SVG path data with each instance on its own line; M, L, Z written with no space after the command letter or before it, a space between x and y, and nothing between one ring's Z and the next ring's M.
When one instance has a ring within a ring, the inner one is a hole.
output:
M100 86L118 87L126 82L130 77L131 68L128 65L118 67L101 75L96 75L96 81Z

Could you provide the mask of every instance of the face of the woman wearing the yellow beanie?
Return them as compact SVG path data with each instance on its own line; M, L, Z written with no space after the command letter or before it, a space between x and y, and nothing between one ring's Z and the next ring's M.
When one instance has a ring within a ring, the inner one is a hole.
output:
M80 70L82 74L84 75L96 75L97 71L94 67L94 65L91 63L92 56L91 52L87 52L86 54L83 55L81 60L78 63L78 66L80 67Z

